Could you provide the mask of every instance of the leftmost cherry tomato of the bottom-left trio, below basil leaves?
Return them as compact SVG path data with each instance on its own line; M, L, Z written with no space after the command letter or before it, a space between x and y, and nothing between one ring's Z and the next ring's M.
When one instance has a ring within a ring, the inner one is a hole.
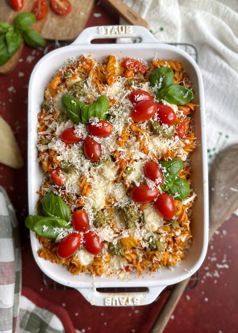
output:
M73 232L68 236L64 237L57 247L57 255L60 258L69 258L74 255L80 246L81 235L79 233Z

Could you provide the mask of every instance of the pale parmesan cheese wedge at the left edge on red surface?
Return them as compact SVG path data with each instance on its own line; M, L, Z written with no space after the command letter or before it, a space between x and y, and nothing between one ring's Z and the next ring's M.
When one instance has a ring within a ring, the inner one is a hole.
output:
M20 169L23 159L11 127L0 117L0 163Z

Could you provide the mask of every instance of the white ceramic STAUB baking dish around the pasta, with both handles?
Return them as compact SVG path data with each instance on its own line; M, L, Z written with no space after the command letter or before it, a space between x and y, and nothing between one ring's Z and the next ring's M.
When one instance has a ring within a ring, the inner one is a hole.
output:
M138 44L91 44L96 38L140 37ZM197 193L193 205L193 220L191 230L193 244L183 262L173 270L164 267L161 272L142 274L140 277L131 276L129 279L92 277L72 275L62 265L52 264L39 258L40 248L34 232L31 231L31 246L34 258L41 270L51 279L70 287L76 288L91 303L95 305L145 305L156 299L168 285L177 283L195 273L201 266L208 244L208 174L207 149L205 132L204 92L200 70L195 61L184 51L167 44L159 43L152 34L139 26L110 26L92 27L85 29L69 46L54 50L43 57L35 66L29 84L28 107L28 198L29 213L37 214L36 191L41 186L41 164L36 162L38 155L37 142L37 113L43 100L45 86L52 74L71 57L79 58L82 54L92 54L95 58L106 57L110 54L118 58L137 57L151 61L156 59L177 60L183 64L192 84L195 97L193 103L198 104L192 117L195 121L195 136L198 148L192 154L192 187ZM102 293L97 288L107 287L147 287L146 292Z

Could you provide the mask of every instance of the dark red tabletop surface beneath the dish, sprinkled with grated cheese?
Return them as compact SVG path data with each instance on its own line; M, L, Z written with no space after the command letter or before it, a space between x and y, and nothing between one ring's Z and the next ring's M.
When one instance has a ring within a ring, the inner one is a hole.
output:
M105 9L106 8L106 9ZM109 7L96 6L87 26L116 24L114 12ZM169 291L164 291L150 305L127 308L95 307L76 290L47 289L42 272L31 253L29 232L24 226L27 216L27 92L30 73L41 58L43 50L25 46L14 72L0 77L0 115L12 127L19 143L25 167L14 170L0 164L0 184L7 190L20 224L23 262L23 285L32 288L67 310L76 329L82 332L147 333L152 327ZM23 73L23 74L21 74ZM43 98L43 94L42 94ZM211 332L235 333L237 329L238 304L238 256L237 222L234 215L227 220L209 244L208 254L202 268L198 285L185 291L169 321L165 333Z

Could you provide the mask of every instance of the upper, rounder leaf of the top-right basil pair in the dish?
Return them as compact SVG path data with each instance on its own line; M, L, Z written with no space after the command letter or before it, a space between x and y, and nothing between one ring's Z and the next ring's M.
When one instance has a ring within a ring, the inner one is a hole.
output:
M174 72L169 67L154 69L149 76L150 86L155 87L156 91L174 84Z

